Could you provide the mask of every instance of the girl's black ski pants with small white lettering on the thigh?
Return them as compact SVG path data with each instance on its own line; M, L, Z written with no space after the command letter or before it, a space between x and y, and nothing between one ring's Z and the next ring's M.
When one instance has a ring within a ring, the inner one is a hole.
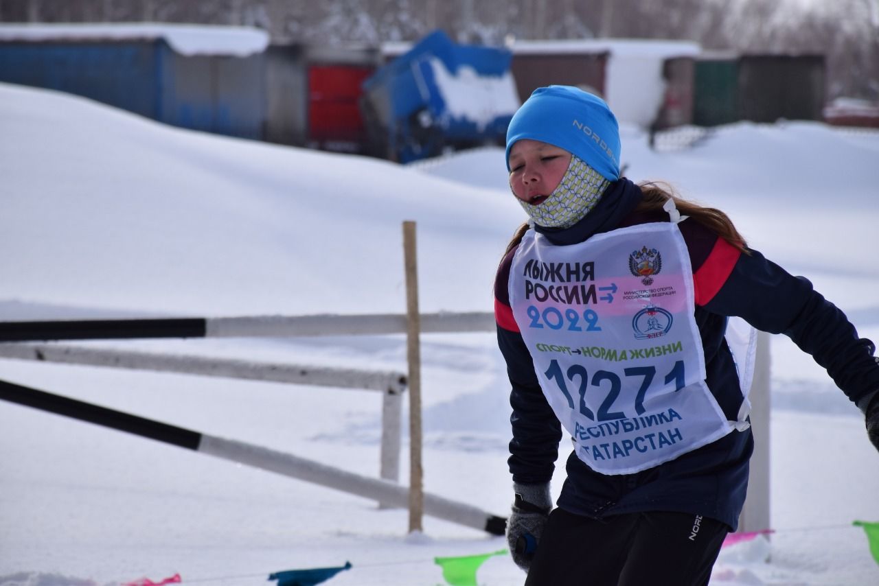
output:
M705 586L730 531L715 519L675 512L600 520L553 510L526 586Z

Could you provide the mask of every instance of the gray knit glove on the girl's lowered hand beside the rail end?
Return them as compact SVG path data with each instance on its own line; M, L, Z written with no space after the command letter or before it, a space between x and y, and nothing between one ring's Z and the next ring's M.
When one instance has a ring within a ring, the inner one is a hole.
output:
M512 561L527 572L552 510L552 499L548 482L513 483L512 488L516 498L512 503L512 515L506 521L506 542L510 546Z

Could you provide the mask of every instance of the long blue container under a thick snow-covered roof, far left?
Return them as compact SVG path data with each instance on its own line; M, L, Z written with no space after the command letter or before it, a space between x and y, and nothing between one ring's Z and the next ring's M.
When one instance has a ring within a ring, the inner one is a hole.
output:
M215 134L261 139L265 125L263 54L187 56L163 39L3 41L0 81Z

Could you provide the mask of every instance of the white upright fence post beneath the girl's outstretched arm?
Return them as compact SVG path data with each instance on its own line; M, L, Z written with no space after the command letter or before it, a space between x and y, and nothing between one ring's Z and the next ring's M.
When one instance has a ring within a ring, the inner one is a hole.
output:
M751 386L751 430L754 434L754 453L751 457L751 475L745 507L738 517L739 532L769 529L769 398L770 358L766 332L757 335L757 358L754 381Z

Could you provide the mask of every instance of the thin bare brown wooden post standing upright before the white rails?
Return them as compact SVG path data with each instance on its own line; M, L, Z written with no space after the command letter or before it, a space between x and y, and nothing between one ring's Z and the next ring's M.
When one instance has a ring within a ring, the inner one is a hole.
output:
M424 488L421 467L421 345L418 339L421 318L418 314L418 262L416 258L415 222L403 222L403 264L406 271L406 357L409 360L409 532L422 531Z

